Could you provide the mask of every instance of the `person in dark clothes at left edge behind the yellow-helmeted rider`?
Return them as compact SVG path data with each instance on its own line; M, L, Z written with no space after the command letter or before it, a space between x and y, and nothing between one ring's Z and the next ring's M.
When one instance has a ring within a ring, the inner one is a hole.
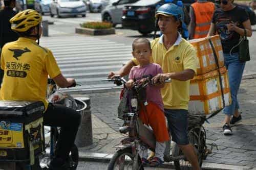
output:
M9 20L16 15L13 8L16 6L15 0L5 0L5 7L0 11L0 51L7 42L16 41L18 34L12 31ZM4 71L0 69L0 86L3 80Z

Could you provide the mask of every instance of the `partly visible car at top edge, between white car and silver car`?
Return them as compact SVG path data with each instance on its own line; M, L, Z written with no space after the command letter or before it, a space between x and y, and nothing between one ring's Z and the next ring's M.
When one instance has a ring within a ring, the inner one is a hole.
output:
M90 12L101 12L108 4L109 0L83 0Z

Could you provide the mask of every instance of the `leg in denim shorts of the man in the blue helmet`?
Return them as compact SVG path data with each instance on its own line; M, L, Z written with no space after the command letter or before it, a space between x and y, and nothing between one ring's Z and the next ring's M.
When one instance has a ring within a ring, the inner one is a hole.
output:
M168 127L172 134L172 140L175 141L188 161L191 163L193 169L199 170L198 157L193 145L189 144L187 127L187 110L170 110L164 109L165 116L168 120Z

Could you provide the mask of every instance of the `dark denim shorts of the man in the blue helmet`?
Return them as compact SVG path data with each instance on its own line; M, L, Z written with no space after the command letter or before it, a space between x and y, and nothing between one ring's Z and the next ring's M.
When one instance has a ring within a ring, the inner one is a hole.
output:
M164 114L168 121L168 128L172 135L172 140L180 145L189 144L187 128L188 128L188 112L184 109L164 109Z

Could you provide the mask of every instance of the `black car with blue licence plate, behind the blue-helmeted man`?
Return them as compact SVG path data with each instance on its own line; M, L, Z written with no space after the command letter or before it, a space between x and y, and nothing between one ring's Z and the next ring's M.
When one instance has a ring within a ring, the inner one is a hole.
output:
M155 30L156 7L164 0L141 0L123 9L122 26L125 29L137 30L146 35Z

